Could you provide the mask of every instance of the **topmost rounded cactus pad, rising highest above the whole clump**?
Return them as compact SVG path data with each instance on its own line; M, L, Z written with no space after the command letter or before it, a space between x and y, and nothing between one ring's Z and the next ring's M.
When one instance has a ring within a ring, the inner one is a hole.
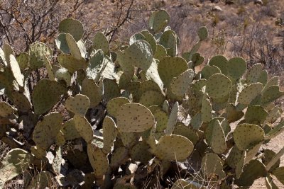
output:
M149 28L158 33L170 22L170 15L165 10L155 11L149 18Z

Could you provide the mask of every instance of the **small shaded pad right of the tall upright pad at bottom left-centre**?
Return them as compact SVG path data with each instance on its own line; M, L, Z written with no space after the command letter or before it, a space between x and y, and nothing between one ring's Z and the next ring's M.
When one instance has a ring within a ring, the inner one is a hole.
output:
M119 147L114 150L111 156L111 168L118 168L120 165L125 164L129 159L129 150L125 147Z

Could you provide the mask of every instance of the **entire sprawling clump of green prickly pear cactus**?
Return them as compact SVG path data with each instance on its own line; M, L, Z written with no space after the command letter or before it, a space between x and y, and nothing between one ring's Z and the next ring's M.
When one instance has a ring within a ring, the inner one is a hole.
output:
M198 30L198 42L179 57L179 38L169 21L166 11L155 11L148 30L132 35L117 52L103 33L87 49L83 25L72 18L59 25L56 54L34 42L15 57L5 44L0 137L12 150L1 162L0 188L30 164L40 172L27 179L28 188L45 188L50 180L60 187L141 188L154 174L151 188L157 178L166 184L172 161L199 164L204 177L222 188L247 188L259 177L274 188L272 175L284 184L284 147L277 154L260 151L284 130L278 119L283 110L274 104L284 94L278 76L268 79L261 64L247 70L243 58L222 55L197 72L207 28ZM38 70L47 76L34 78ZM99 105L106 115L92 125L89 113ZM80 147L66 149L70 142ZM187 175L166 187L202 185Z

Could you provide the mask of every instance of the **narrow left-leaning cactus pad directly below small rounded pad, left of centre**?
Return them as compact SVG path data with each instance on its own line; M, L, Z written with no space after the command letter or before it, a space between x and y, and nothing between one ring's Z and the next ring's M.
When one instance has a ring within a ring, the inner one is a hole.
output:
M74 115L75 128L80 133L81 137L87 142L92 142L93 129L88 120L82 115Z

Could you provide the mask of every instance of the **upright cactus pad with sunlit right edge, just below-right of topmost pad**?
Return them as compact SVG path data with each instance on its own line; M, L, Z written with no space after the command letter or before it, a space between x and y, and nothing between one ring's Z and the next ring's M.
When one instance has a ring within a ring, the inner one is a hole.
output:
M178 53L178 42L177 42L177 34L173 30L166 30L160 36L159 44L163 45L167 50L167 55L171 57L175 57Z

